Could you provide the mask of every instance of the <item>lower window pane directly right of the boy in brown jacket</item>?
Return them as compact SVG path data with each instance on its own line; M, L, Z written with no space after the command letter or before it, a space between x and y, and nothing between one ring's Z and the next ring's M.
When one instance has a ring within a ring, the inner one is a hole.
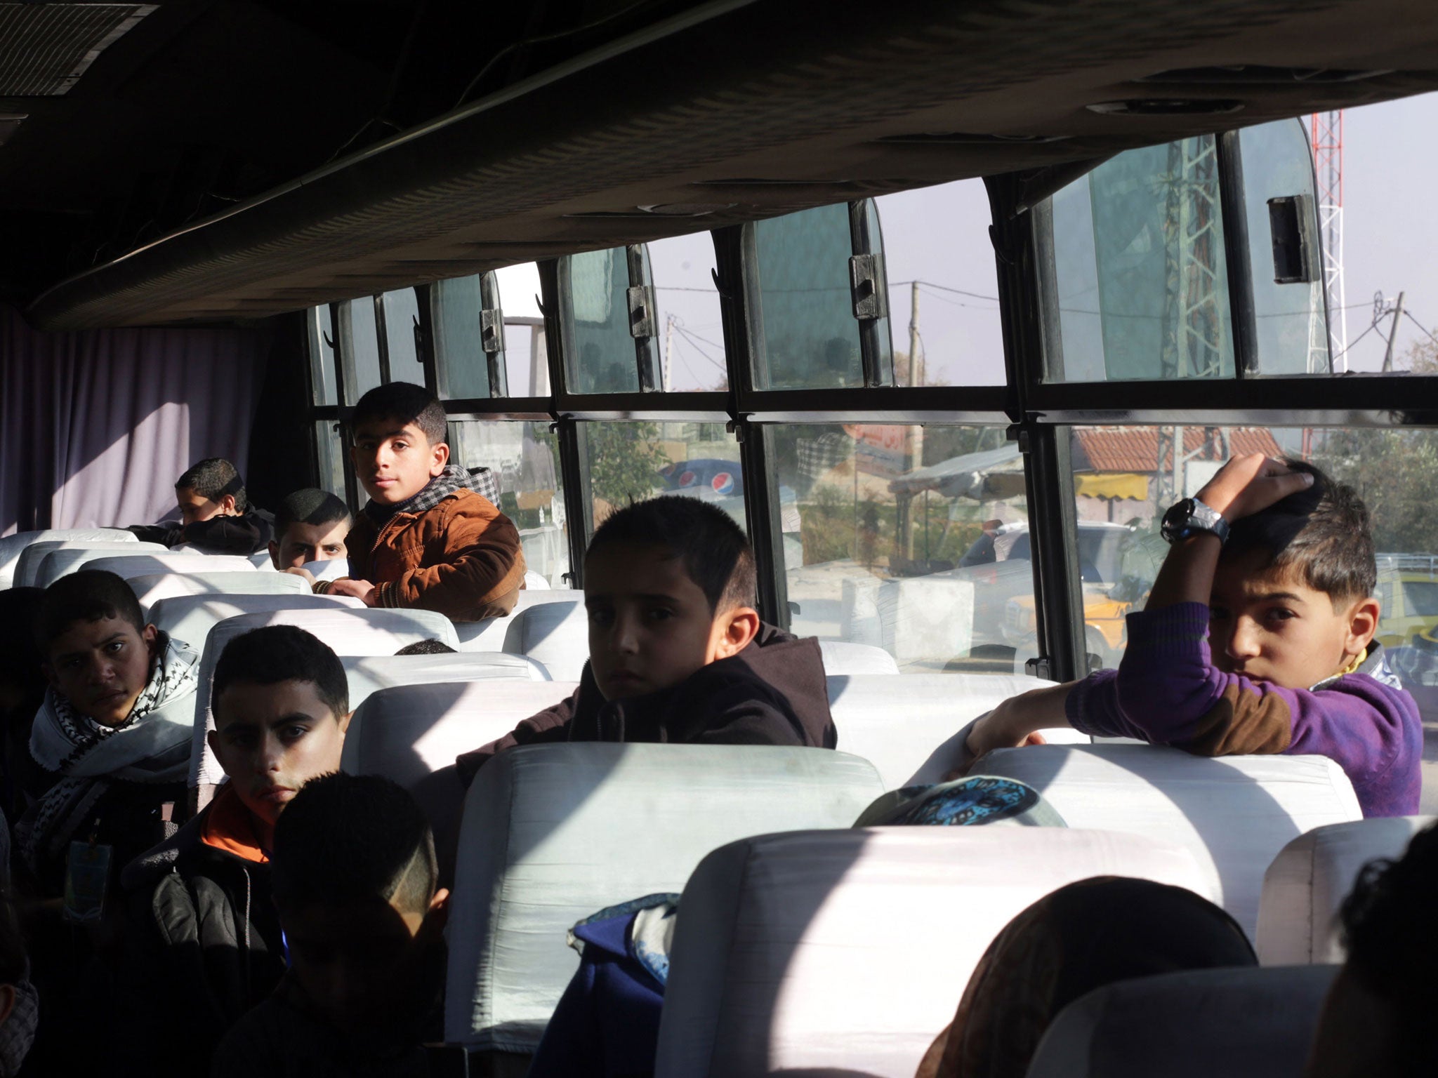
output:
M546 423L452 420L450 459L487 467L499 483L499 509L515 522L525 566L568 588L569 529L564 512L558 438Z

